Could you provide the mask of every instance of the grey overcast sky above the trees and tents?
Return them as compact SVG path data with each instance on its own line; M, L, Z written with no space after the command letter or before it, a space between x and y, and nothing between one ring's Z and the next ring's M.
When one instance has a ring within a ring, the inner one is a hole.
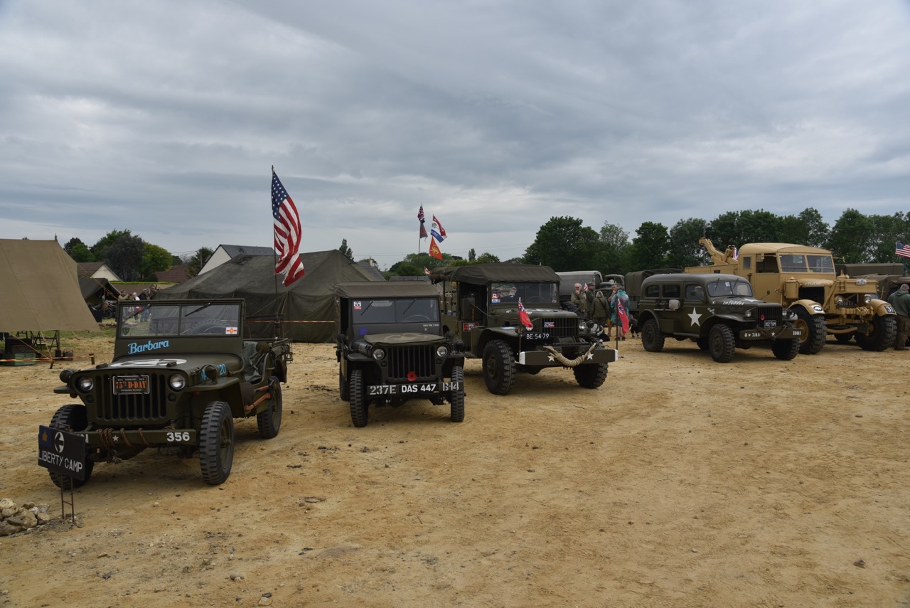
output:
M910 0L0 0L0 238L521 256L728 210L910 211ZM910 237L910 236L908 236Z

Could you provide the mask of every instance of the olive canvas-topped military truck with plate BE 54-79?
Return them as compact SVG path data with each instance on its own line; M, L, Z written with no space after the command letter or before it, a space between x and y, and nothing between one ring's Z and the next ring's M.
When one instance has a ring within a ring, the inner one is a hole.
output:
M517 371L546 368L571 368L580 386L596 389L618 359L597 339L602 328L561 308L560 278L549 267L471 264L432 269L430 280L442 290L443 331L464 341L469 359L482 360L494 395L512 390ZM531 327L522 325L522 309Z

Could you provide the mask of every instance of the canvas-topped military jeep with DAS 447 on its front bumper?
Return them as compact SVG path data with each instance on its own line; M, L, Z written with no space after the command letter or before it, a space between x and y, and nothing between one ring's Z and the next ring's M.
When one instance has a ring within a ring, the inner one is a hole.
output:
M464 342L440 323L439 291L427 281L358 281L335 287L339 396L355 427L369 404L449 402L464 420Z

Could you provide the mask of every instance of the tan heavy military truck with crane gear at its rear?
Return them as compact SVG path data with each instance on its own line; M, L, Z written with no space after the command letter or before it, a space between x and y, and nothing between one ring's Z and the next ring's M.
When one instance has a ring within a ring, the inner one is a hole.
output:
M699 243L712 264L685 269L690 273L729 273L752 283L755 297L793 310L803 330L800 352L822 350L827 335L838 341L856 339L864 350L885 350L897 335L894 309L878 299L875 280L836 274L831 251L787 243L748 243L720 251L709 238Z

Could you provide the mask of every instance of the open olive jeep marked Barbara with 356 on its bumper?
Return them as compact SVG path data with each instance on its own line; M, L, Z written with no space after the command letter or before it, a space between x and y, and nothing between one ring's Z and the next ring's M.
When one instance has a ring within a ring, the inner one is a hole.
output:
M202 479L227 480L234 419L255 416L263 439L281 426L288 339L243 338L242 299L142 300L117 307L114 359L63 370L54 392L81 403L56 411L50 426L86 439L86 479L96 462L133 458L146 448L198 454ZM58 487L69 478L50 473Z

